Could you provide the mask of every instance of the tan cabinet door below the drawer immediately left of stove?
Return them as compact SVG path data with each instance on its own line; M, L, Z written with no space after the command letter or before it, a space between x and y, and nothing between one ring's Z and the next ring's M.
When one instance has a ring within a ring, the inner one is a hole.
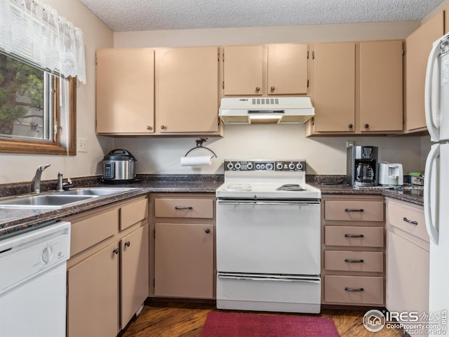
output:
M213 298L213 225L156 223L156 296Z

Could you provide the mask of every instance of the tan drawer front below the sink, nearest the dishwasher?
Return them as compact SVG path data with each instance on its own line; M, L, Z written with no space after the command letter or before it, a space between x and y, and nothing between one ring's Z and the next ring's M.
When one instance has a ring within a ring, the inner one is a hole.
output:
M119 231L119 209L72 223L70 256L111 237Z

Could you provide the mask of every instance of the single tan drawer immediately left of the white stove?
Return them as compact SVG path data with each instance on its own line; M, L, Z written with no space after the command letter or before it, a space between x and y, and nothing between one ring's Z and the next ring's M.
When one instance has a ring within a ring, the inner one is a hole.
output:
M213 218L212 199L154 199L156 218Z

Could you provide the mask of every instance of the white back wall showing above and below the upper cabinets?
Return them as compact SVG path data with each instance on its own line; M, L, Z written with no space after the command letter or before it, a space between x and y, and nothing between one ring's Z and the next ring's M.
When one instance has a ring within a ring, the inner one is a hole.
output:
M115 48L206 46L232 44L311 43L404 39L420 22L350 25L186 29L114 33ZM379 159L400 162L404 171L422 170L420 137L305 138L302 125L225 126L224 138L209 138L204 146L219 157L212 166L180 166L180 157L195 138L117 138L114 146L137 158L138 173L222 173L223 159L306 159L308 173L346 174L346 140L379 147ZM196 150L189 155L208 154Z

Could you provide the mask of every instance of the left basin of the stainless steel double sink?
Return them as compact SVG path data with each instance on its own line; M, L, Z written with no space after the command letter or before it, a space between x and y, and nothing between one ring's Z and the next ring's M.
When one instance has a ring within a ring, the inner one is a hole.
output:
M79 201L92 199L95 195L37 194L0 199L0 208L60 208Z

